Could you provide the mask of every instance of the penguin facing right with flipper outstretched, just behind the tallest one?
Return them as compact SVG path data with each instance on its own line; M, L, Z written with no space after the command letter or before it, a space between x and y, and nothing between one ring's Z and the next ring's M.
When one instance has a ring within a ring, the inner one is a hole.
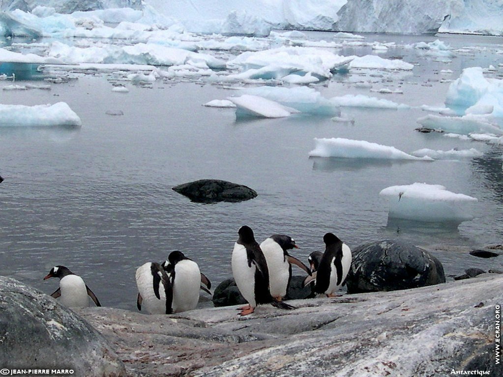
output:
M292 237L284 234L273 234L260 244L269 269L271 296L278 301L281 301L286 295L288 284L292 278L292 264L311 275L309 269L302 262L288 254L288 250L294 247L298 248L299 246L295 244Z

